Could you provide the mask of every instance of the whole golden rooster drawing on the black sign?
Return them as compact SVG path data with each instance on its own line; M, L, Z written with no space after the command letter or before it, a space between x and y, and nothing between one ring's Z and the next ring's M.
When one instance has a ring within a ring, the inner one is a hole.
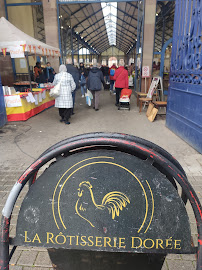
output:
M90 223L92 227L95 227L86 217L86 207L88 206L89 202L89 195L92 200L92 203L95 207L95 210L105 210L108 209L109 214L112 215L112 219L115 217L119 217L120 211L126 207L127 203L130 203L129 198L119 191L113 191L107 193L104 198L102 199L101 204L97 204L95 202L95 198L93 195L92 185L89 181L83 181L79 184L78 188L78 200L75 205L76 213L84 220Z

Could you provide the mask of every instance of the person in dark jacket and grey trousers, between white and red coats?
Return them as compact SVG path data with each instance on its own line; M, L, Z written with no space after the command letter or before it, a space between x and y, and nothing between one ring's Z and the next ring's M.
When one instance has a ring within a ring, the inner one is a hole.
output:
M95 111L99 111L99 96L102 89L102 84L104 85L104 77L102 71L97 66L97 64L93 65L93 68L88 74L87 81L88 89L93 94L93 108Z

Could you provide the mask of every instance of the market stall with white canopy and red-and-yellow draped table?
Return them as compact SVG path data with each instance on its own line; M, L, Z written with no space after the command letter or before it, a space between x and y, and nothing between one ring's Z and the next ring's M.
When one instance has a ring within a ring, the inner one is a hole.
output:
M29 56L43 55L59 57L58 48L49 46L25 34L4 17L0 18L0 52L11 58L24 58L27 62L29 81L15 82L12 91L4 87L8 121L24 121L54 105L54 98L49 95L51 84L40 85L31 81ZM20 91L25 92L20 92Z

